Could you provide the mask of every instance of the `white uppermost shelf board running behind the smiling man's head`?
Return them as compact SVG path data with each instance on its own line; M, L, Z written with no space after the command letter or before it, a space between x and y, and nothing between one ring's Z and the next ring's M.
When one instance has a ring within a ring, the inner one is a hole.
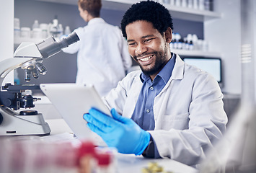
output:
M35 1L48 1L61 4L77 5L77 1L74 0L35 0ZM126 11L132 4L135 4L138 0L102 0L102 8L112 9L118 11ZM185 19L196 22L205 22L208 19L221 18L221 13L211 12L200 9L190 9L182 6L171 6L164 4L166 8L171 12L172 18Z

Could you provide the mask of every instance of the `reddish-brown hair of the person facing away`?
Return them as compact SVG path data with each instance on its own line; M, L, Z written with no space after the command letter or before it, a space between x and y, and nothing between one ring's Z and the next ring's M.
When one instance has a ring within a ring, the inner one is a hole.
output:
M83 10L87 10L93 17L100 17L100 9L102 8L101 0L79 0L78 5Z

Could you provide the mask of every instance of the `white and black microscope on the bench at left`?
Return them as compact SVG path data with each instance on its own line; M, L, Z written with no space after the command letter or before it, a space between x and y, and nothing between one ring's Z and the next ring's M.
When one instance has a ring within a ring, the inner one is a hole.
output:
M21 43L14 52L14 58L8 58L0 63L0 136L37 135L47 136L50 127L45 122L42 113L36 110L27 110L35 107L33 102L40 98L30 94L22 95L26 90L40 89L36 85L3 85L4 78L10 71L22 68L25 71L25 81L30 81L31 76L37 79L39 74L46 74L42 62L45 58L55 55L62 48L79 41L76 33L56 41L49 37L41 43ZM20 108L25 110L17 111Z

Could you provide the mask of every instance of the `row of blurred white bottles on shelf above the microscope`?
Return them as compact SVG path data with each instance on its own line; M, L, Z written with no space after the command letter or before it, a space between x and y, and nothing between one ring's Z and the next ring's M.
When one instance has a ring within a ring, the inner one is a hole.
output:
M50 36L63 37L63 35L67 36L71 33L69 26L66 26L63 30L63 26L58 23L57 17L49 24L39 24L38 20L35 20L31 28L20 27L19 23L19 19L14 18L14 37L45 39Z

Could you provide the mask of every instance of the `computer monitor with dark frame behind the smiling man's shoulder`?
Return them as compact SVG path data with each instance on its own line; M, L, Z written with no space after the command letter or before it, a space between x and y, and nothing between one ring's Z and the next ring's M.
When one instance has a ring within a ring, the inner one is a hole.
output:
M183 58L183 61L207 71L221 84L221 58Z

